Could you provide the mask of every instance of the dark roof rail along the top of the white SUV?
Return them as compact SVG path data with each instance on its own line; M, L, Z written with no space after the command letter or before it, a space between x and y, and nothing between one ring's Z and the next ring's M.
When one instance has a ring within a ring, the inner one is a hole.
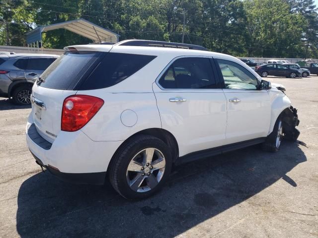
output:
M115 46L147 46L147 47L167 47L167 48L177 48L177 49L189 49L198 51L208 51L208 49L203 46L182 44L175 42L165 42L165 41L148 41L148 40L125 40L115 44Z

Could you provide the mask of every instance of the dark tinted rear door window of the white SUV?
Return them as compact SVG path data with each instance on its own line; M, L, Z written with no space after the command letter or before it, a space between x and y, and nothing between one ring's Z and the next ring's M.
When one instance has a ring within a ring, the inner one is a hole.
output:
M208 58L181 58L175 60L159 79L166 89L217 88Z

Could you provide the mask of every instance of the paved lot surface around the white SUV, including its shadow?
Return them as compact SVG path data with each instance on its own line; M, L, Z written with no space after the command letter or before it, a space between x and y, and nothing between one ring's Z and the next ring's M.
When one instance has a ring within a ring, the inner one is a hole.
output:
M0 237L317 238L318 76L268 79L299 109L297 143L182 165L138 202L42 173L25 143L30 108L0 98Z

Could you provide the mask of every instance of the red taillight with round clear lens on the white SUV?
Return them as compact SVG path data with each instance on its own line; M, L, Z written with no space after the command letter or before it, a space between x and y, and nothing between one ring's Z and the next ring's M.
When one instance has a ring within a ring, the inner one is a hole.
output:
M88 95L72 95L63 102L61 130L76 131L92 119L104 100Z

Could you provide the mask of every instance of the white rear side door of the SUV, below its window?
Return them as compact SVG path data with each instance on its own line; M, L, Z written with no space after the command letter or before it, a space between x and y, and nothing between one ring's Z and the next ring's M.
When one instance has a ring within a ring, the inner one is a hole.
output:
M179 156L225 144L227 105L222 90L161 90L155 83L153 87L162 128L176 138Z

